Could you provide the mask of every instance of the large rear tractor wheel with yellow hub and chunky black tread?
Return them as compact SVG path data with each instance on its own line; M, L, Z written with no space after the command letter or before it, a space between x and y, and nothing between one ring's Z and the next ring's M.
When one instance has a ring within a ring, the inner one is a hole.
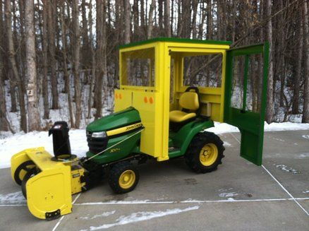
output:
M219 136L211 132L199 133L188 147L185 155L186 164L194 172L212 172L222 163L224 149Z

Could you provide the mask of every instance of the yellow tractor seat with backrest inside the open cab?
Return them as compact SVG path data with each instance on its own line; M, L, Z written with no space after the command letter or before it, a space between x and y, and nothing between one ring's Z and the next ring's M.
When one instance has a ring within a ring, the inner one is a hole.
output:
M179 105L183 108L183 110L182 111L174 110L169 112L170 122L180 123L196 117L195 112L200 107L200 103L198 100L198 93L186 91L179 98Z

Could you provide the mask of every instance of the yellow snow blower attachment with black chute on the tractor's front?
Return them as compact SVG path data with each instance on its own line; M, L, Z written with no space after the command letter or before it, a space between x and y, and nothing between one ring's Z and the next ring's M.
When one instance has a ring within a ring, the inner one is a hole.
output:
M49 130L54 138L54 157L40 147L23 150L11 158L11 176L21 185L30 213L40 219L52 220L71 213L71 195L85 189L85 169L79 159L71 154L59 155L64 149L71 153L68 139L64 139L65 143L55 142L59 137L56 133L63 128L65 124L55 124L54 130Z

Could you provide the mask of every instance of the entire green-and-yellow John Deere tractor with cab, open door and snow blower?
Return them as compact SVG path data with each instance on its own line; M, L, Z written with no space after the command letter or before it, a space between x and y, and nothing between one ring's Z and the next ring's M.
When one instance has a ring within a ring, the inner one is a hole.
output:
M212 172L224 158L222 140L205 131L214 121L237 126L241 156L261 165L268 45L230 45L156 38L121 46L114 113L87 126L85 158L71 154L66 122L49 130L54 156L42 147L13 155L12 177L30 212L71 213L71 195L104 179L116 194L132 191L138 164L149 159L183 157L190 170Z

